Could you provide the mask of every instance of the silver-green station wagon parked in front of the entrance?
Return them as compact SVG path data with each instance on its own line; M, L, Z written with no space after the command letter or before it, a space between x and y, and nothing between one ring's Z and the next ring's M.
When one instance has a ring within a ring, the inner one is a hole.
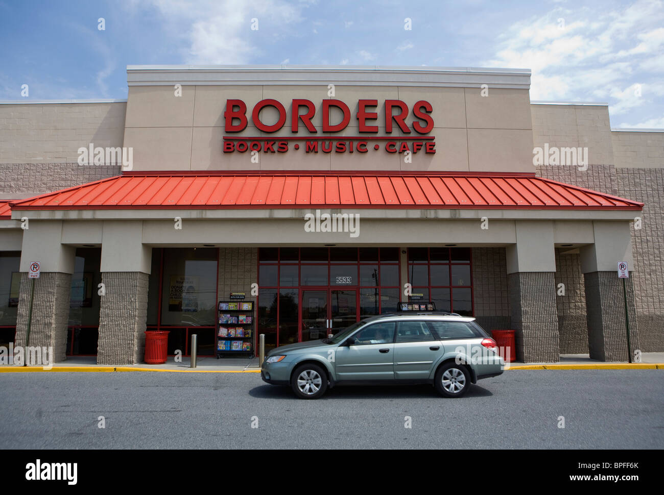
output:
M332 338L275 348L260 376L290 386L302 399L360 384L432 384L444 397L461 397L504 366L495 340L475 318L411 311L367 318Z

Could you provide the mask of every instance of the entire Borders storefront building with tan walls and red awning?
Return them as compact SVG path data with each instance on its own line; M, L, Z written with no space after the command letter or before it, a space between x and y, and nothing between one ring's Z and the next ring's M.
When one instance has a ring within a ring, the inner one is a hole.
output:
M531 103L527 70L127 80L126 102L0 104L3 342L25 345L40 261L30 344L56 360L141 362L146 329L213 354L218 301L244 293L252 350L422 301L513 328L526 362L626 361L627 261L631 350L664 350L663 132Z

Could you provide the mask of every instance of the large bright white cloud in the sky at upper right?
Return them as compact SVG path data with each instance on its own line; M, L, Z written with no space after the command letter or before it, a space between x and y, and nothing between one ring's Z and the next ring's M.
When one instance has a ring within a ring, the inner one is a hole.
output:
M638 0L597 15L576 5L558 6L514 23L485 63L531 69L532 100L602 98L611 113L626 113L648 103L634 96L635 78L658 64L655 70L662 71L663 7L661 0Z

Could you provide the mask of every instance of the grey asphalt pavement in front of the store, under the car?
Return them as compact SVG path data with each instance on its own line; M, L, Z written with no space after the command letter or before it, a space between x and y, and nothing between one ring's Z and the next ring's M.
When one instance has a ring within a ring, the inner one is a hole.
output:
M510 370L460 399L362 386L304 401L256 373L8 373L0 392L2 449L664 448L661 370Z

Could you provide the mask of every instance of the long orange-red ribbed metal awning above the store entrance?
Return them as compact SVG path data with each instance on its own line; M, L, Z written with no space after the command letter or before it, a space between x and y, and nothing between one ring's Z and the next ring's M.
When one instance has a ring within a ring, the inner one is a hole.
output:
M20 210L494 208L641 210L643 203L529 173L124 173L25 200ZM0 206L2 208L2 206ZM1 212L2 210L0 210Z

